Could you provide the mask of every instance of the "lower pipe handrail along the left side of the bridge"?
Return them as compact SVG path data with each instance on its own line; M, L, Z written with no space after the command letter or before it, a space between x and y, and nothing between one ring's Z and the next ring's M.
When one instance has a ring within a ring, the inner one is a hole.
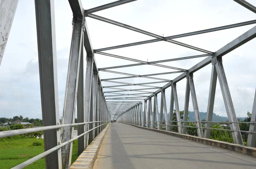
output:
M105 124L107 124L107 122L106 122ZM29 164L34 163L35 161L38 161L39 159L45 157L46 155L48 155L48 154L50 154L50 153L52 153L52 152L54 152L54 151L56 151L56 150L59 150L62 146L65 146L66 144L69 144L69 143L73 142L74 140L78 139L79 137L85 135L86 133L88 133L88 132L90 132L90 131L92 131L92 130L94 130L94 129L96 129L96 128L102 126L102 125L105 125L105 124L101 124L101 125L99 125L99 126L97 126L97 127L94 127L94 128L92 128L92 129L90 129L90 130L88 130L88 131L86 131L86 132L84 132L84 133L78 135L77 137L70 139L69 141L66 141L66 142L64 142L64 143L61 143L61 144L59 144L58 146L55 146L55 147L53 147L53 148L51 148L51 149L49 149L49 150L47 150L47 151L45 151L45 152L43 152L43 153L41 153L41 154L35 156L35 157L33 157L33 158L30 158L30 159L27 160L27 161L24 161L23 163L20 163L19 165L13 167L12 169L22 169L22 168L28 166Z

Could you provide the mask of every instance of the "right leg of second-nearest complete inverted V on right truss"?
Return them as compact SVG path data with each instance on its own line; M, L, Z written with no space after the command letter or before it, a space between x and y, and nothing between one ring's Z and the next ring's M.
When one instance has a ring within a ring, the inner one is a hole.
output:
M199 109L198 109L198 102L196 99L196 93L195 93L195 85L194 85L194 80L193 80L193 74L189 74L189 87L190 87L190 93L191 93L191 98L192 98L192 104L194 107L194 112L195 112L195 121L197 122L197 127L202 127L201 120L200 120L200 114L199 114ZM198 137L204 137L203 129L202 128L197 128L198 132Z

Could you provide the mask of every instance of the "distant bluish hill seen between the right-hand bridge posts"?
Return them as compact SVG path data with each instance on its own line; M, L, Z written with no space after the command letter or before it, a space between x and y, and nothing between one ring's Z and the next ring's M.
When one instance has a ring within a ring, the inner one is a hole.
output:
M206 112L199 112L199 115L200 115L200 119L201 120L204 120L206 119ZM168 116L168 119L170 118L170 113L167 114ZM189 111L189 120L188 121L195 121L195 113L192 112L192 111ZM241 121L244 120L245 117L242 117L242 118L239 118ZM165 116L163 114L163 119L165 119ZM225 116L219 116L219 115L216 115L215 113L213 113L212 115L212 121L228 121L228 118L225 117Z

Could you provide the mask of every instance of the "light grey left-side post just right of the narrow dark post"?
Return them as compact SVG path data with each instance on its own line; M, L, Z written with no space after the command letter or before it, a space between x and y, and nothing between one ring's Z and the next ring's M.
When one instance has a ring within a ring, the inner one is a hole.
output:
M91 88L92 88L92 78L93 78L93 57L87 55L87 63L86 63L86 73L85 73L85 85L84 85L84 117L85 122L89 121L89 113L90 113L90 101L91 101ZM85 132L88 131L88 124L84 125ZM88 134L84 135L85 139L85 148L88 145Z

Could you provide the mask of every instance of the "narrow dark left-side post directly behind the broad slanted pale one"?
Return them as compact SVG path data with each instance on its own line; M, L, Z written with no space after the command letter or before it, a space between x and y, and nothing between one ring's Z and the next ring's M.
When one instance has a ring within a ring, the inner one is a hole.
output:
M84 54L83 54L83 40L81 42L81 56L79 66L79 78L77 87L77 122L83 123L84 119ZM84 133L84 125L77 127L77 135ZM78 138L78 155L80 155L85 149L84 135Z

